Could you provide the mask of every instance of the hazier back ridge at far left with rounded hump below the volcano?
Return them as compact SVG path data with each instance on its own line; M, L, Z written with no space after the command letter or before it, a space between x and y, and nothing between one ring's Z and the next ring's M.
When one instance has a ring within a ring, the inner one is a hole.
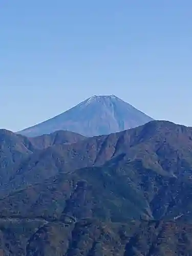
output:
M58 131L50 135L27 138L7 130L0 130L0 183L8 180L22 161L33 153L39 153L49 146L74 143L84 139L82 135Z

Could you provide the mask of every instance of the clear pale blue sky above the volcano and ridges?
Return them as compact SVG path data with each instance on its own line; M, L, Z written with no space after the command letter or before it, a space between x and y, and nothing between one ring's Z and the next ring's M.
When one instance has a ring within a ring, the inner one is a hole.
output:
M115 94L192 126L191 0L0 1L0 127Z

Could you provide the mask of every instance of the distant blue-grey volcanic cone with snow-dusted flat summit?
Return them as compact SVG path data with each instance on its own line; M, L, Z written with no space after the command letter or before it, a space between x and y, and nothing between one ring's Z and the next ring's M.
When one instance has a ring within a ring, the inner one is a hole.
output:
M152 120L115 95L93 96L74 108L18 134L35 137L66 130L92 137L120 132Z

